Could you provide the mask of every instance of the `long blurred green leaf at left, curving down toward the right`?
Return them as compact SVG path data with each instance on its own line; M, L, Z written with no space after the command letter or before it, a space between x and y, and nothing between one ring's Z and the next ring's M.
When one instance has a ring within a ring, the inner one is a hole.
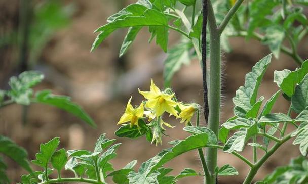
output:
M47 104L51 106L55 106L59 109L63 109L76 117L79 117L86 123L88 123L92 127L96 127L96 124L92 120L92 118L80 107L79 105L73 103L70 100L70 97L67 96L59 96L51 94L50 90L42 90L36 93L36 97L34 102Z

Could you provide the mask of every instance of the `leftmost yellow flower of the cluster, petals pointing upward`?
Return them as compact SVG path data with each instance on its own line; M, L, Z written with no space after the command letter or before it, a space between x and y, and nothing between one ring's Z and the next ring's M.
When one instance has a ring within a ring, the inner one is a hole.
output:
M137 125L137 127L139 128L138 119L142 118L144 112L143 101L138 108L134 109L131 105L131 100L132 97L129 99L125 113L120 118L118 124L123 124L130 121L130 127L132 127L133 125Z

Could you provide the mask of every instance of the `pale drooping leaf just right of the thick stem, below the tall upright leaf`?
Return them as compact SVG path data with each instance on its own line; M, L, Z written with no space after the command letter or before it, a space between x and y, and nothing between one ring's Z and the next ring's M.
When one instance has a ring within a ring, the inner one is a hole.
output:
M244 149L246 142L253 135L257 134L257 124L255 123L250 128L240 128L240 131L235 132L223 147L223 151L231 153L233 151L241 152Z

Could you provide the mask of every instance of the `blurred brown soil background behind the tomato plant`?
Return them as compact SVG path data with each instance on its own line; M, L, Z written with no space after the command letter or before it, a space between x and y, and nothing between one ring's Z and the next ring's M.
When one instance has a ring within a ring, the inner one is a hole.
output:
M0 0L0 88L8 89L8 80L25 70L38 70L45 74L45 80L36 89L49 88L53 93L67 95L80 104L95 120L97 129L92 129L74 116L44 105L31 105L24 108L11 105L0 110L0 134L10 137L25 147L29 159L35 157L40 143L52 137L61 137L61 147L68 149L92 149L102 133L108 138L117 138L114 131L125 110L128 99L133 95L132 104L142 100L138 88L148 90L150 79L163 87L163 61L166 54L155 45L148 44L147 29L137 36L129 52L119 58L119 50L126 30L113 33L103 44L90 53L95 39L93 31L106 23L111 14L135 1L129 0ZM179 35L170 32L170 43L179 41ZM244 84L245 74L251 67L270 53L258 41L245 41L244 38L230 39L233 51L222 53L223 86L221 123L233 116L232 97L239 86ZM299 55L306 59L307 41L299 47ZM278 88L273 83L274 70L293 70L298 65L288 56L281 54L273 59L261 85L259 95L270 98ZM182 67L172 80L171 86L179 101L202 104L202 73L199 62L191 61ZM274 107L274 112L287 112L288 102L282 97ZM202 113L201 113L202 114ZM204 124L204 118L201 118ZM170 135L163 137L163 145L151 145L144 137L137 140L117 138L122 142L118 157L112 161L119 169L131 160L143 161L155 156L160 150L169 147L166 143L188 136L183 132L183 124L177 120L168 121L176 125L168 129ZM247 146L248 148L249 146ZM299 155L298 146L291 142L268 160L256 176L262 179L275 167L289 163L291 157ZM251 149L243 153L250 156ZM260 152L260 154L263 154ZM25 173L17 164L7 159L8 174L13 183ZM220 183L240 183L244 180L248 167L233 155L219 152L219 165L226 163L235 166L240 175L221 177ZM177 174L185 167L202 172L197 153L179 156L166 166L174 168ZM137 168L136 167L136 168ZM179 183L202 183L202 177L183 179Z

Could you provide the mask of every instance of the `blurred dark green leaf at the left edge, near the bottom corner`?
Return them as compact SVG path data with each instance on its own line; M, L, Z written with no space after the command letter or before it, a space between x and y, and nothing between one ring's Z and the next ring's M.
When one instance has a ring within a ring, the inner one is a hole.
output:
M0 153L10 157L26 171L33 172L27 159L28 154L26 150L18 146L8 137L2 135L0 135ZM4 166L2 166L2 168L4 168Z

